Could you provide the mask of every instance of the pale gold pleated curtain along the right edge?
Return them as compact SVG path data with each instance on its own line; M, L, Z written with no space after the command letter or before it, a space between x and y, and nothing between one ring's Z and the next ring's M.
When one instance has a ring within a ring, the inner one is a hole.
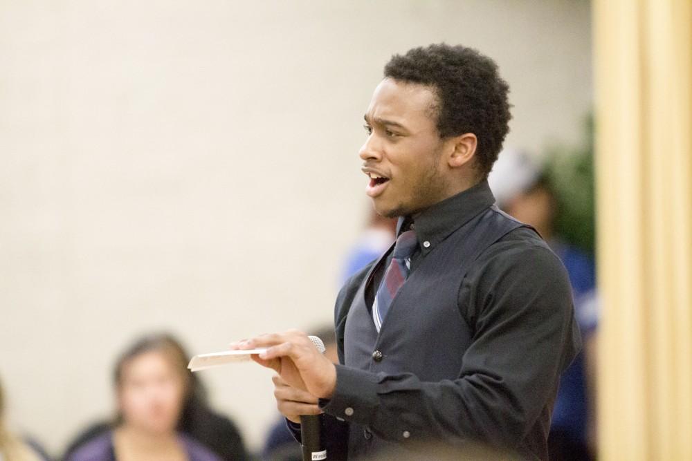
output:
M599 455L692 460L692 0L595 0Z

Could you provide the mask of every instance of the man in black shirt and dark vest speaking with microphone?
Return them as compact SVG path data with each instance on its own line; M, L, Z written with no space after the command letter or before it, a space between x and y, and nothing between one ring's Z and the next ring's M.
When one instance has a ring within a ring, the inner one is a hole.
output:
M476 50L395 55L365 112L367 195L397 241L336 300L339 364L297 331L235 348L277 371L289 426L325 413L329 459L471 444L547 459L561 372L579 349L558 258L495 207L486 180L509 87ZM421 459L435 458L421 453Z

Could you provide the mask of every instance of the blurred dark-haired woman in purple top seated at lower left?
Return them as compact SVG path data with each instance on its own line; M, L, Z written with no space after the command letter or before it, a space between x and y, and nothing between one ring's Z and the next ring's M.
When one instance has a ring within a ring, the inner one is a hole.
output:
M188 357L171 335L136 341L116 363L116 421L93 424L70 444L65 459L247 459L235 425L208 407Z

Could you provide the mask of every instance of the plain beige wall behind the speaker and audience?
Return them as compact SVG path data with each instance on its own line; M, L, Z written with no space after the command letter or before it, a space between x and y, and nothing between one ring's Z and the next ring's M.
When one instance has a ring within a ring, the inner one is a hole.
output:
M500 64L507 144L579 138L587 1L0 2L0 377L57 452L112 408L113 357L331 319L367 200L362 114L392 53ZM203 373L252 446L270 373Z

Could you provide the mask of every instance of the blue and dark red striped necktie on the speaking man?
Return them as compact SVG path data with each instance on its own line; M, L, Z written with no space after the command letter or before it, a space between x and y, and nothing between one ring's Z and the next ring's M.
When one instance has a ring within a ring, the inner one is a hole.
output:
M372 319L375 321L375 328L378 332L382 328L382 323L387 316L390 305L392 305L392 300L397 296L397 292L406 281L411 267L411 255L417 245L418 239L416 238L416 233L412 230L403 232L397 238L397 243L394 244L392 262L387 267L372 306Z

